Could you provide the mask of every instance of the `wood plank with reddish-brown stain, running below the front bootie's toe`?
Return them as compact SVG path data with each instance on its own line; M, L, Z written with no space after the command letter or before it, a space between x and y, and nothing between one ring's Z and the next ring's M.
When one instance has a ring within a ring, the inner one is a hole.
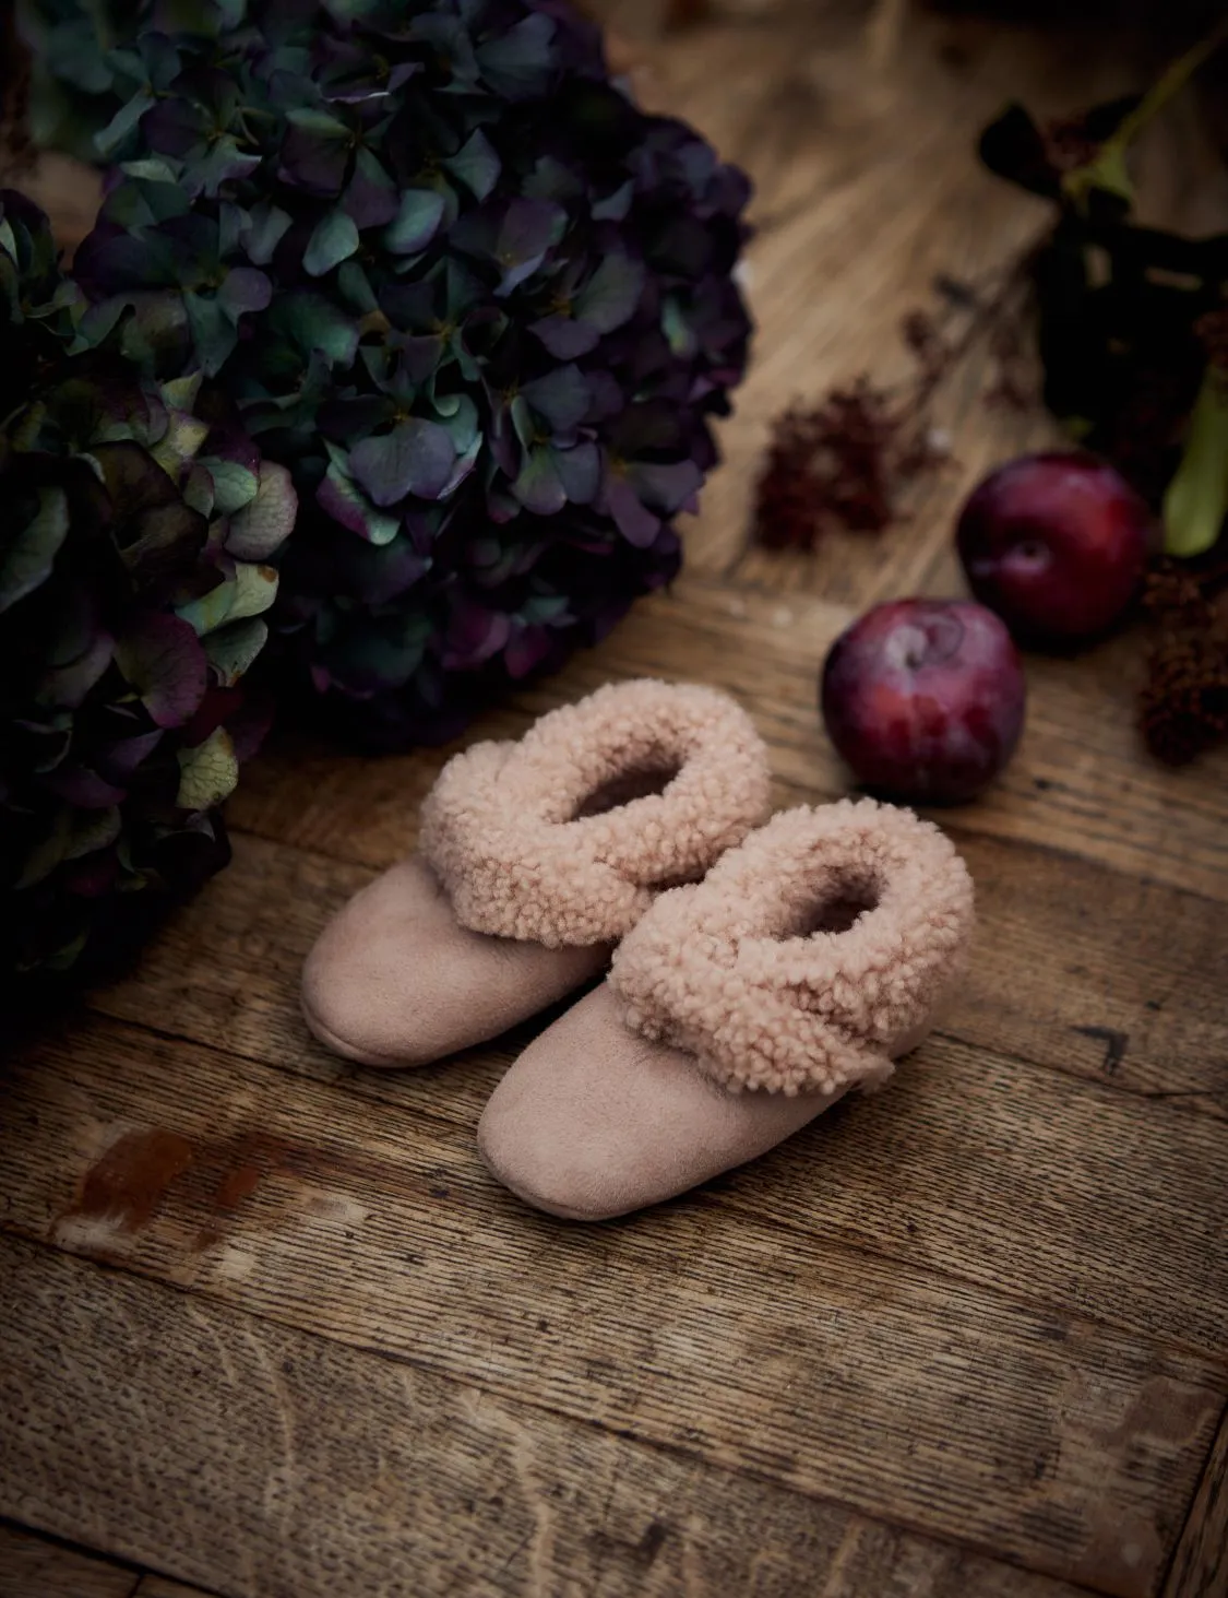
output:
M953 1291L923 1254L824 1248L848 1176L838 1149L811 1171L806 1235L770 1203L759 1219L711 1197L564 1229L503 1195L468 1141L383 1106L307 1082L287 1104L273 1072L104 1045L94 1036L62 1082L48 1058L10 1082L14 1123L37 1117L5 1159L10 1229L26 1237L1127 1598L1167 1556L1222 1361ZM117 1133L141 1144L149 1125L185 1163L129 1227L80 1173L113 1179ZM784 1191L806 1202L787 1171Z

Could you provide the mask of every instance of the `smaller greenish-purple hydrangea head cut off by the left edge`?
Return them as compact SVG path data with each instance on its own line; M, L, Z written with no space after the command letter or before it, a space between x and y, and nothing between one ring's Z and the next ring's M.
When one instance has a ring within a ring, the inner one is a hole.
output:
M48 249L0 193L0 350L40 334L0 428L0 984L105 960L225 865L217 805L263 727L243 678L295 510L198 376L53 356Z

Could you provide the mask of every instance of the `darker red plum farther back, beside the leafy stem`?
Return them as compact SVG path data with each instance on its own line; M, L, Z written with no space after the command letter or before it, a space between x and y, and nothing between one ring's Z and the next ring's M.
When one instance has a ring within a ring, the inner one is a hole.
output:
M976 598L1014 636L1075 644L1116 622L1142 582L1153 518L1095 455L1020 455L972 491L955 545Z

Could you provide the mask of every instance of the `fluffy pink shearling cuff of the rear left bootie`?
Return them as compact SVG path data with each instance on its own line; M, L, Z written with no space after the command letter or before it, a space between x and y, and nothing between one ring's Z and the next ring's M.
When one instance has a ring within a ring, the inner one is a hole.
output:
M519 743L449 761L418 847L473 932L613 943L663 888L741 842L767 813L768 785L767 748L728 695L610 684Z

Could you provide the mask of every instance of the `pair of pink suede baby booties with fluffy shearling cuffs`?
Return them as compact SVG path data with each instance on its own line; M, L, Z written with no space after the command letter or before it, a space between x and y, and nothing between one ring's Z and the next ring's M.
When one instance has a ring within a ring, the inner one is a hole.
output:
M960 978L972 884L872 799L767 820L768 753L714 689L612 684L441 772L418 852L303 970L335 1053L426 1064L599 976L477 1130L527 1203L608 1219L752 1160L881 1085Z

